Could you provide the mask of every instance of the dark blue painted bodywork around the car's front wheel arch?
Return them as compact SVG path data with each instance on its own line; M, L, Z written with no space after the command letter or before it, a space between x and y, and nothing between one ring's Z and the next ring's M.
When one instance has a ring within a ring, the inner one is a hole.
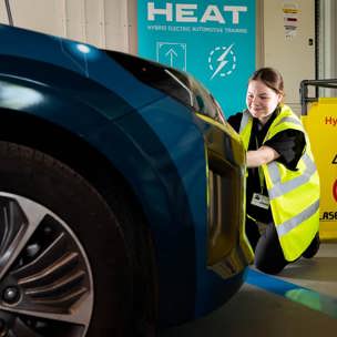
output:
M0 108L70 131L130 183L155 242L162 325L203 315L239 287L244 270L224 280L206 268L214 126L187 106L92 45L0 24Z

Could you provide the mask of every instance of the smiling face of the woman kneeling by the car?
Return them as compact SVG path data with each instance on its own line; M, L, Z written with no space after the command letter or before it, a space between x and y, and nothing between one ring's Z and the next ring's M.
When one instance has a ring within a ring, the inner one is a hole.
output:
M248 84L246 104L251 114L263 124L268 120L282 100L282 94L276 93L262 81L253 80Z

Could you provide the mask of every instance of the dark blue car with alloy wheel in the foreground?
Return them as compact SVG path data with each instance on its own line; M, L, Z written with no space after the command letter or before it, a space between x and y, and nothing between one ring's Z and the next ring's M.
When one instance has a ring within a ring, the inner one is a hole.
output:
M2 24L0 163L1 336L153 336L245 279L245 153L186 73Z

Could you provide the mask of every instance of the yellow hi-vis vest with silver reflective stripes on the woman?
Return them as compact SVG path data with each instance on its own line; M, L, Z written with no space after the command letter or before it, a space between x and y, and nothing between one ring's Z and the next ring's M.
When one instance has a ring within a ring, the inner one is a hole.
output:
M239 135L248 150L253 118L243 113ZM308 247L319 227L319 176L308 136L300 120L284 105L273 121L263 144L280 131L294 129L305 134L306 147L297 171L277 161L262 165L270 201L273 219L286 261L295 261Z

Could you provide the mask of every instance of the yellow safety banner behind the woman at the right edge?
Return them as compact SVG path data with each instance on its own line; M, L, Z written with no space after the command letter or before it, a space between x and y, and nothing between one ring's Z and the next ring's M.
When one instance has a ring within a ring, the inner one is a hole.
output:
M303 116L320 177L323 239L337 239L337 99L319 99Z

